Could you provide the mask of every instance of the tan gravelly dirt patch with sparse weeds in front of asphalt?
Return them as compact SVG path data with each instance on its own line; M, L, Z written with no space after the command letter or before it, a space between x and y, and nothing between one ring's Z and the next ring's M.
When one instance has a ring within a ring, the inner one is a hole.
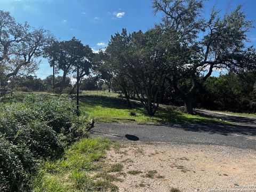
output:
M123 182L114 182L119 191L213 191L256 185L256 151L249 149L118 143L108 151L106 163L123 165Z

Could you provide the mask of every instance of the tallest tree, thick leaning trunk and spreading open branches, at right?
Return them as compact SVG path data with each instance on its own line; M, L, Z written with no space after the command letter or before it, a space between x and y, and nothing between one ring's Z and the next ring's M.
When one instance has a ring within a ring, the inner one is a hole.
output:
M183 100L187 113L193 113L192 101L199 84L211 76L214 69L238 69L255 63L253 47L246 47L246 33L252 27L246 21L242 6L220 16L212 9L209 19L203 17L201 0L154 0L155 13L163 13L161 27L177 36L179 54L169 51L167 60L175 92ZM180 83L189 80L187 90Z

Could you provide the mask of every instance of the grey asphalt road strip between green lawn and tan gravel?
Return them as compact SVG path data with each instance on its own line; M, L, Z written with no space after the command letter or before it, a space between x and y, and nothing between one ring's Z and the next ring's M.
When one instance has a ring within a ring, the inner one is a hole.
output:
M225 115L218 118L225 119ZM201 143L256 150L255 119L243 117L243 122L239 124L237 117L228 116L227 118L229 121L233 120L238 123L236 125L95 123L91 133L95 136L117 140Z

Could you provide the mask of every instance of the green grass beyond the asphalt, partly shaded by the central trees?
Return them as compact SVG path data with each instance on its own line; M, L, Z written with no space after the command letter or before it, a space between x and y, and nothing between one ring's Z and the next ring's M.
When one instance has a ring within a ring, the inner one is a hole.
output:
M131 101L132 108L127 106L126 100L117 98L117 94L87 91L83 92L80 99L81 110L89 113L95 121L120 122L124 120L115 118L132 118L136 123L216 123L217 119L202 117L198 115L188 115L174 111L170 106L161 105L155 116L148 116L147 111L138 101ZM136 111L137 116L130 116L130 111Z

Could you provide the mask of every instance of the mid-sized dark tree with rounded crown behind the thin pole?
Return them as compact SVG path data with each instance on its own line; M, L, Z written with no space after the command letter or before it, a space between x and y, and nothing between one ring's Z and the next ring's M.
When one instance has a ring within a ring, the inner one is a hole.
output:
M89 74L93 53L89 45L84 46L81 41L73 37L69 41L54 41L51 46L45 48L45 57L49 58L50 65L55 65L57 71L63 71L59 91L61 94L67 75L77 70L77 66L81 69L79 78Z

